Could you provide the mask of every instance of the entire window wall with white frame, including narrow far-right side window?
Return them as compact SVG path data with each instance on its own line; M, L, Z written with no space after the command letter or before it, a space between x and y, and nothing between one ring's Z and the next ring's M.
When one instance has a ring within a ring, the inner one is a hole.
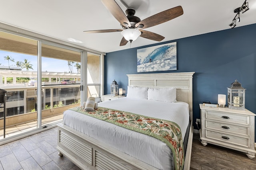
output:
M104 53L0 23L0 144L51 127L88 96L100 102L103 62Z

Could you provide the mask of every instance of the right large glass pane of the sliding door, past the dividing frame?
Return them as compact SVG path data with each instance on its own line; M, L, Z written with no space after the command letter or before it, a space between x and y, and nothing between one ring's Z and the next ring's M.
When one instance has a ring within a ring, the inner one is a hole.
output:
M42 125L47 126L80 105L81 52L43 43L41 70Z

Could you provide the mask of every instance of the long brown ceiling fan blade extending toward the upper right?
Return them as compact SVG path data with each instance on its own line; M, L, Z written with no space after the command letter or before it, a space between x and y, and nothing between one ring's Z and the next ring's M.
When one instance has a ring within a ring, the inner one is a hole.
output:
M153 16L150 16L138 23L136 23L136 27L138 27L140 24L144 25L143 27L139 29L145 29L148 27L152 27L155 25L158 25L160 23L164 23L166 21L170 21L178 16L181 16L183 14L183 9L181 6L176 6L174 8L171 8L169 10L162 11L158 14L155 14Z

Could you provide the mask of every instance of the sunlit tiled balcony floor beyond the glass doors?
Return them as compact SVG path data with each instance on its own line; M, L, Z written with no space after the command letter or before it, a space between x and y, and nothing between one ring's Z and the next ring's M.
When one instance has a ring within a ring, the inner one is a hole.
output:
M54 123L57 121L60 121L61 119L63 119L63 113L60 113L58 115L53 115L53 116L49 116L49 117L44 117L42 118L42 126L47 125L49 123ZM31 131L33 129L36 129L36 124L37 121L28 121L25 123L20 123L17 125L12 125L12 126L8 126L5 129L5 137L10 137L10 136L14 136L20 133L24 133L27 131ZM1 128L0 129L0 139L4 138L4 129Z

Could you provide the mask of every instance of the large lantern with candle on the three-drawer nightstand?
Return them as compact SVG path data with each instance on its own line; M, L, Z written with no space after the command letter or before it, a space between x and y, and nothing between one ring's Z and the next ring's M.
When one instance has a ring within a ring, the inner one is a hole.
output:
M245 110L245 88L237 80L228 88L228 108Z

